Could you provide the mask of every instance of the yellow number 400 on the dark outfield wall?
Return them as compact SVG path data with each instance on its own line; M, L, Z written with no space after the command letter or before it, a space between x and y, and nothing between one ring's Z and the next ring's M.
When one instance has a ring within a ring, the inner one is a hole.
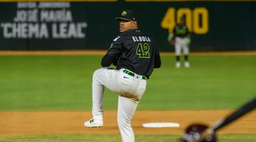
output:
M175 12L175 9L170 7L161 22L161 27L169 29L169 33L172 33L172 29L175 26L175 15L177 22L180 22L180 18L185 15L186 25L189 31L195 34L206 34L209 31L208 10L205 7L198 7L191 11L189 8L180 8ZM201 19L200 20L200 15ZM201 26L200 26L201 21Z

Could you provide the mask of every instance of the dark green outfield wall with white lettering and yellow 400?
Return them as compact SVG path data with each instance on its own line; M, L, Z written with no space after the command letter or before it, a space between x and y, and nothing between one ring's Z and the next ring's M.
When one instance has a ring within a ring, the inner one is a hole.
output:
M139 28L160 51L174 51L168 30L186 16L191 51L256 50L256 1L135 1L0 3L0 50L108 49L119 34L114 20L138 13ZM18 15L18 16L17 16Z

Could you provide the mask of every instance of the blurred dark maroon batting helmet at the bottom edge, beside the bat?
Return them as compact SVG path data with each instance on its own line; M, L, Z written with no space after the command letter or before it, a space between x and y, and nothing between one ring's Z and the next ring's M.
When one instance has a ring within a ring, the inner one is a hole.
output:
M203 124L192 124L185 130L185 133L182 135L182 138L180 140L182 142L190 142L189 138L198 138L199 134L207 128L208 126ZM216 133L214 133L213 135L208 135L203 142L216 142Z

